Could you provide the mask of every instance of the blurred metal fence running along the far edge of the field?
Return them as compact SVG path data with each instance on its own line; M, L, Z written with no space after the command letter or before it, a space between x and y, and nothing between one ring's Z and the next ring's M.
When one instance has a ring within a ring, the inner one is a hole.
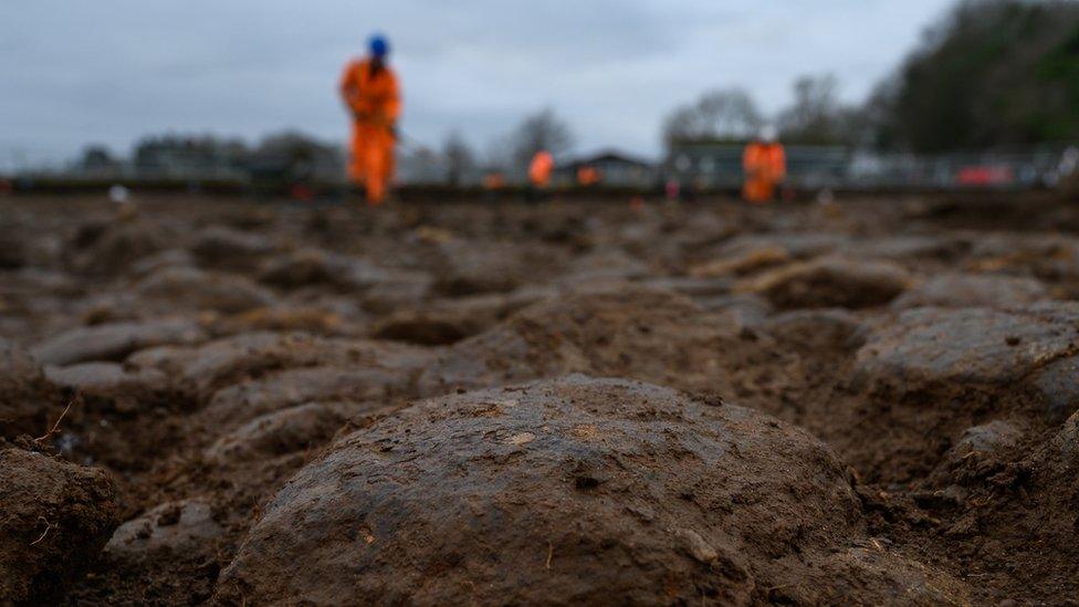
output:
M606 182L614 187L657 188L667 180L706 189L734 189L743 179L742 153L737 144L681 144L667 158L641 169L643 177L632 181ZM995 149L940 155L887 154L829 146L787 146L788 182L798 189L857 190L946 190L946 189L1037 189L1054 187L1079 169L1079 147L1056 144L1029 149ZM14 157L13 157L14 158ZM8 164L9 177L50 181L139 182L231 182L237 188L258 184L344 182L342 150L279 150L251 154L244 158L216 158L205 154L185 156L170 151L156 163L102 160L97 163L38 164L18 157ZM402 184L446 184L447 171L439 157L402 154L398 161ZM640 167L633 166L635 169ZM558 182L570 185L573 171L559 172ZM608 172L610 172L608 170ZM461 176L461 184L475 186L482 174ZM507 185L520 185L523 172L505 176Z

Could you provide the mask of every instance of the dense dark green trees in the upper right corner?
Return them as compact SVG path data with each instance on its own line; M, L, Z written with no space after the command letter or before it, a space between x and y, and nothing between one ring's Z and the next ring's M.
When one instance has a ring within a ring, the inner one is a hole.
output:
M962 1L866 114L878 145L914 151L1079 138L1079 3Z

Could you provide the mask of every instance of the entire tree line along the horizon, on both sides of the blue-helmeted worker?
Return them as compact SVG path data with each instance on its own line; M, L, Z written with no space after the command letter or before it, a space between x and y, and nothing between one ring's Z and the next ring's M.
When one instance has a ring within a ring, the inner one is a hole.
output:
M940 153L1079 140L1079 0L960 0L900 65L859 104L845 104L831 74L793 84L790 104L768 116L738 87L709 91L671 111L662 123L668 147L685 140L740 143L765 124L782 140ZM551 108L525 116L478 154L459 130L420 154L450 182L478 171L520 171L540 149L573 150L574 133ZM213 137L148 137L134 161L154 167L176 155L235 165L252 154L301 150L329 159L329 144L285 133L254 148ZM180 154L182 153L182 154ZM170 156L171 155L171 156ZM107 150L86 150L84 165L111 163Z

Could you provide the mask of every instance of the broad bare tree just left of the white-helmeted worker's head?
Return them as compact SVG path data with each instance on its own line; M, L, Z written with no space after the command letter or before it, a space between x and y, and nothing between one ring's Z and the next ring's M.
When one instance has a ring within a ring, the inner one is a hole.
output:
M764 118L748 93L723 88L671 112L663 123L663 140L670 145L679 140L745 139L762 124Z

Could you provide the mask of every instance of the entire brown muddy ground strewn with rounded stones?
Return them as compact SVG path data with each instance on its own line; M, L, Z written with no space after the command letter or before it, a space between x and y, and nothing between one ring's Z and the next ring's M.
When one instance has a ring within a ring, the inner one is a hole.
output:
M1079 208L0 199L0 604L1075 604Z

